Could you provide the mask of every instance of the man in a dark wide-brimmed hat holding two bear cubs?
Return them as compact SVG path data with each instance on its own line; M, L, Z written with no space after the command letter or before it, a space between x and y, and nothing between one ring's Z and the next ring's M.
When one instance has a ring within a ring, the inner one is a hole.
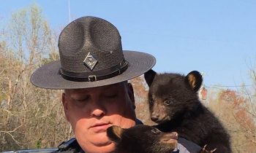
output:
M84 152L113 152L115 146L106 129L138 124L134 93L127 80L150 70L155 58L123 51L116 27L98 17L80 17L69 23L59 36L59 55L60 60L34 71L31 82L64 90L64 112ZM200 150L181 141L195 152ZM178 147L188 152L181 144Z

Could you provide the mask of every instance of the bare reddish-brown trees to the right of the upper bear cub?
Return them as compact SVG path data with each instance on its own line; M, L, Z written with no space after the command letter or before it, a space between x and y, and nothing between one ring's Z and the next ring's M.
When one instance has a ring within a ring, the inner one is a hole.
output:
M210 97L208 107L230 133L233 152L256 152L256 124L250 104L252 99L234 90L219 90L216 98L213 98L214 95Z

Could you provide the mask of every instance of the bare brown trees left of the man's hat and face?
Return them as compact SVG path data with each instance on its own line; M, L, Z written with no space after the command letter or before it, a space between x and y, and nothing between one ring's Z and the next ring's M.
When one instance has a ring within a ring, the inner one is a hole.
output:
M56 34L37 5L13 13L1 42L0 150L53 147L72 136L61 90L30 83L33 71L57 60Z

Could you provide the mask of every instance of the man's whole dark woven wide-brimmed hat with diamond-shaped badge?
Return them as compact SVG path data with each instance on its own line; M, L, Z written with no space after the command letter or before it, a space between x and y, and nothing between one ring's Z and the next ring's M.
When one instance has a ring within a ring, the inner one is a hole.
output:
M47 89L80 89L124 82L151 69L154 56L122 50L115 26L98 17L80 17L59 36L60 60L38 68L31 82Z

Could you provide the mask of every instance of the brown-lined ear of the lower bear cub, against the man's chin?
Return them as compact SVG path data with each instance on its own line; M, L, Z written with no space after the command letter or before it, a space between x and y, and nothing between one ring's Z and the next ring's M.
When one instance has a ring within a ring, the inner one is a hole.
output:
M110 138L111 141L118 142L121 140L121 134L123 132L124 132L124 129L116 125L113 125L111 127L108 127L107 136L108 138Z

